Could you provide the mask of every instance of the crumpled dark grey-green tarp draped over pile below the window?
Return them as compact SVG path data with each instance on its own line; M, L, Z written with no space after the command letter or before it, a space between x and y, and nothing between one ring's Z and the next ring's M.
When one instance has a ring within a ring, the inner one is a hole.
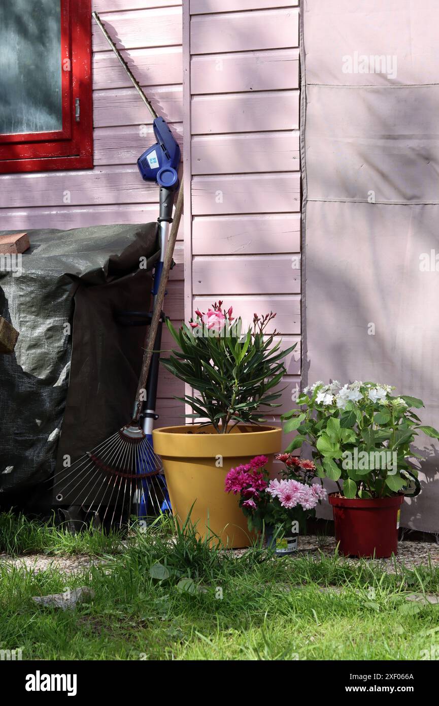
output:
M15 352L0 355L6 493L41 484L57 456L59 467L73 462L129 420L145 328L114 314L149 310L159 256L157 223L28 235L21 262L0 268L0 314L20 333Z

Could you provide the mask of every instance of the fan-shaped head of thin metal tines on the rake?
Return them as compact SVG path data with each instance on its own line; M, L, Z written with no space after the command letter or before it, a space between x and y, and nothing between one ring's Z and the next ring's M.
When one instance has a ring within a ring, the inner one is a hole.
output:
M117 515L119 527L133 511L146 517L169 509L160 457L150 436L134 424L83 455L67 474L57 474L54 487L58 501L68 496L70 505L80 505L86 513L99 514L103 506L102 523L112 513L110 524Z

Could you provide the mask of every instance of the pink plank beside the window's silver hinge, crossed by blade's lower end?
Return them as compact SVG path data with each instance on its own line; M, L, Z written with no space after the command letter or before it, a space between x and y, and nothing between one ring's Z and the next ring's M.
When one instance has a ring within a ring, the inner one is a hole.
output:
M148 90L148 96L157 113L167 122L183 121L181 86L153 87ZM152 118L135 88L119 88L93 92L93 123L95 128L150 125Z

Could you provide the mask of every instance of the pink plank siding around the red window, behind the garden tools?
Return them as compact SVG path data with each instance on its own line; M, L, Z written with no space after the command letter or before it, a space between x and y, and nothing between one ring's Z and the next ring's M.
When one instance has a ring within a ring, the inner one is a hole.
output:
M155 109L182 143L181 1L93 0L92 5ZM72 229L157 219L157 187L142 181L136 167L139 155L153 141L151 116L99 28L92 25L95 167L2 175L1 229ZM174 259L166 311L179 325L184 318L183 225ZM164 344L171 347L167 332ZM184 405L174 400L183 386L163 371L158 424L184 423Z

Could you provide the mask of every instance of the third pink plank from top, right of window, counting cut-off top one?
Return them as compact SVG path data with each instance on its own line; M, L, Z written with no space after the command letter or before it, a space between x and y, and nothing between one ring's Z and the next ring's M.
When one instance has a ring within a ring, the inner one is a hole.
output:
M121 52L142 86L181 83L181 47L131 49ZM114 52L93 54L93 88L129 88L131 81Z

